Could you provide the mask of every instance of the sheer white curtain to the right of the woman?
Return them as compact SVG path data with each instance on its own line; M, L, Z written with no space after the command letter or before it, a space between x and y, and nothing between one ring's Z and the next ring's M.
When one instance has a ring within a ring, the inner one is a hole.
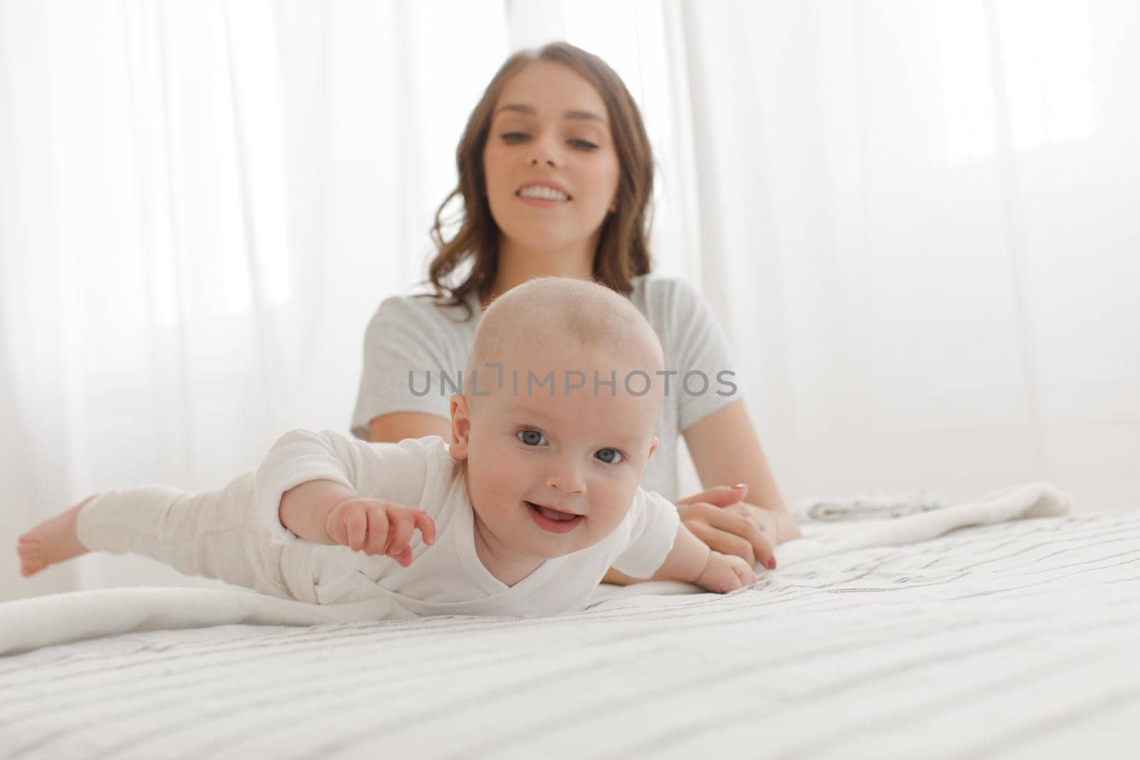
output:
M642 100L659 263L728 328L790 501L1045 479L1135 508L1134 3L518 5Z

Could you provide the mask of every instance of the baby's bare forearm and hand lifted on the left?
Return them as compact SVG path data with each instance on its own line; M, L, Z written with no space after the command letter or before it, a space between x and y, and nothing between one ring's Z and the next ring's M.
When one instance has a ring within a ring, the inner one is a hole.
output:
M278 517L295 536L314 544L339 544L353 551L383 554L412 564L412 531L435 541L435 523L423 509L368 499L327 480L301 483L282 495Z

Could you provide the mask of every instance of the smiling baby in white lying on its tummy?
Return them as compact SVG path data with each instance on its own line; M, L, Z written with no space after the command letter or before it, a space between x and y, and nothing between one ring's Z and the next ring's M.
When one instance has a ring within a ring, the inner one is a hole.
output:
M131 551L302 602L385 596L396 616L578 610L610 566L741 588L756 581L747 562L710 550L637 487L657 448L662 369L626 299L535 279L480 321L450 444L293 431L221 491L91 497L21 537L22 572Z

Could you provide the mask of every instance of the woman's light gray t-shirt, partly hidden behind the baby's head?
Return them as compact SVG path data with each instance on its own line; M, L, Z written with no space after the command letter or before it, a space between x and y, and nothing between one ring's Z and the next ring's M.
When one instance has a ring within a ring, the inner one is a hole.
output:
M667 382L667 393L657 426L658 449L641 483L646 491L673 500L678 496L677 436L742 398L740 383L724 332L692 287L643 275L634 278L629 301L660 338L666 370L676 371L653 381ZM430 297L397 295L381 302L364 338L364 371L352 412L355 435L369 440L372 419L397 411L449 419L449 399L467 365L482 316L475 294L469 303L474 313L464 320L462 308L439 308Z

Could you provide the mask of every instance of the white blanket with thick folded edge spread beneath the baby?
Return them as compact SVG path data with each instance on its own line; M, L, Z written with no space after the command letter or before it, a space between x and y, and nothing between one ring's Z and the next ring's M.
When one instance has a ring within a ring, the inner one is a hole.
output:
M1048 483L1028 483L987 493L974 501L894 520L856 525L805 525L805 537L776 547L779 567L817 557L877 546L898 546L936 538L955 528L1025 517L1067 514L1068 498ZM767 572L760 569L760 572ZM684 594L697 587L651 582L602 586L595 603L628 595ZM381 620L385 598L319 606L244 590L119 588L73 591L0 604L0 654L98 636L155 629L226 624L317 626Z

